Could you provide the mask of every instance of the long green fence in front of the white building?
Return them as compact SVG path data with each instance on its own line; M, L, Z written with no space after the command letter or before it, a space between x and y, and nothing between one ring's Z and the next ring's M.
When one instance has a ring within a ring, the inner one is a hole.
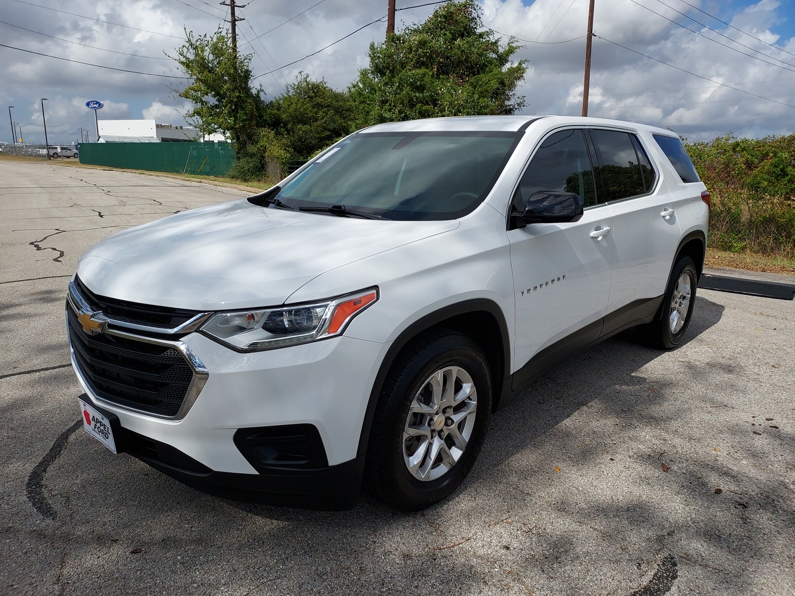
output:
M228 143L80 143L80 163L224 176L235 163Z

